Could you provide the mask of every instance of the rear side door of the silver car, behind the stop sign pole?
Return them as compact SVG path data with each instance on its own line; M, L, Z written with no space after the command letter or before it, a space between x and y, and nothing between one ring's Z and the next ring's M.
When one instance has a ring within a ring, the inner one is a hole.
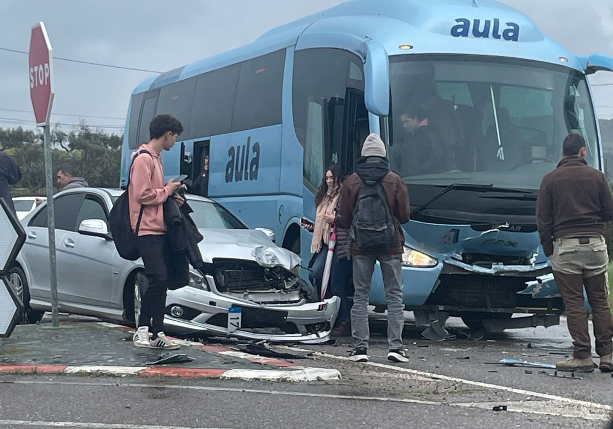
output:
M64 194L53 200L55 203L55 248L58 270L58 301L66 299L59 281L59 255L61 243L67 230L73 230L78 208L85 196L82 193ZM26 242L21 249L29 271L29 292L32 299L51 302L51 265L49 262L49 232L47 205L36 213L26 226Z

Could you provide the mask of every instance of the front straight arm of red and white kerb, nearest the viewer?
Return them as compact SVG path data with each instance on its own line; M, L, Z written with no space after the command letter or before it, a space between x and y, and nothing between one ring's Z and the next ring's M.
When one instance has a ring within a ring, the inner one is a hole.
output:
M218 370L212 368L169 368L164 366L0 365L0 374L72 374L116 377L162 376L261 381L321 381L340 379L340 373L337 370L300 367L294 370Z

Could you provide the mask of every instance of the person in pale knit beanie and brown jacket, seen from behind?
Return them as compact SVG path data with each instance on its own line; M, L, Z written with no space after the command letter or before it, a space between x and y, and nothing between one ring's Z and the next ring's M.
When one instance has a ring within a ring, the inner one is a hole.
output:
M364 252L352 240L354 298L351 308L351 332L356 338L356 347L349 359L368 362L368 298L378 260L383 274L387 298L387 359L393 362L408 362L402 344L402 328L405 324L402 303L402 247L405 242L401 224L409 221L409 195L405 181L397 173L391 172L386 159L386 147L381 138L370 134L362 146L362 157L357 161L357 169L343 182L341 188L341 213L338 226L350 228L354 220L354 210L360 189L364 183L381 182L394 218L395 245L387 249ZM355 237L352 237L355 238Z

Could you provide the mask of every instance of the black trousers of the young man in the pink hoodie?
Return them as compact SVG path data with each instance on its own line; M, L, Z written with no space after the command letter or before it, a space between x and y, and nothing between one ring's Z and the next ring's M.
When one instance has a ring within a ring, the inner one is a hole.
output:
M141 235L137 239L137 246L147 277L147 286L141 290L139 326L148 326L153 338L156 338L159 332L164 331L168 278L166 264L169 256L166 235Z

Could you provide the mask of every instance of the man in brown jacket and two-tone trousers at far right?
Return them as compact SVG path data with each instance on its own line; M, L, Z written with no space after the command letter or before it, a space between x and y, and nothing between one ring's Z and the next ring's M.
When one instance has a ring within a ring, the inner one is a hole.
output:
M613 196L604 174L585 162L585 140L569 134L563 159L541 183L536 221L541 245L551 260L555 282L566 306L566 322L573 338L573 357L556 363L561 371L592 372L592 344L588 332L584 289L592 307L596 354L600 370L611 372L613 322L607 303L607 245L603 223L613 220Z

